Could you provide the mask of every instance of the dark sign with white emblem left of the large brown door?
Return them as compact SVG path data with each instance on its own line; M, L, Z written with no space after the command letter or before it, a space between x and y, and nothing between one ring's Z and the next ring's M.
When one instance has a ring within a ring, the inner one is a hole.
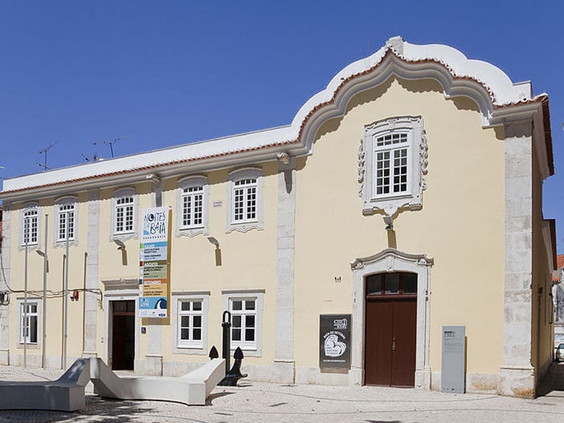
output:
M319 315L319 367L350 369L350 314Z

